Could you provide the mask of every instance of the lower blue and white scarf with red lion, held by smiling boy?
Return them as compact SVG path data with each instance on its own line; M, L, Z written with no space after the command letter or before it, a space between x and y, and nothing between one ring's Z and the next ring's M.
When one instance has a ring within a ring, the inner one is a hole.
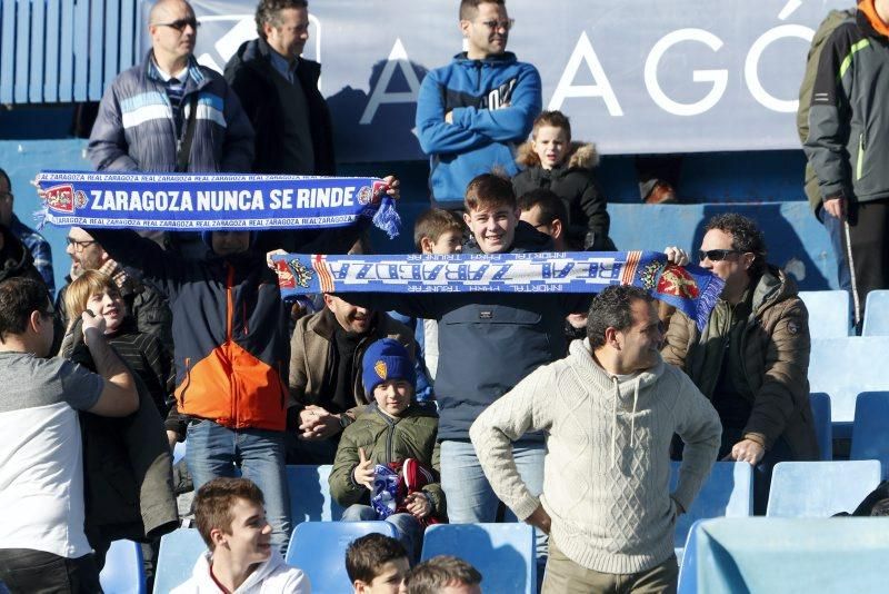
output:
M703 328L722 280L676 266L657 251L461 254L451 256L274 256L284 298L311 293L599 293L633 285Z

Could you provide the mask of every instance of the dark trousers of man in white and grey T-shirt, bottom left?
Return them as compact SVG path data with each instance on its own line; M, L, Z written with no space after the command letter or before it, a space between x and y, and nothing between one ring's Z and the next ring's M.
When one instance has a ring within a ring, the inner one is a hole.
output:
M102 591L92 554L67 558L32 548L0 548L0 581L11 594L94 594Z

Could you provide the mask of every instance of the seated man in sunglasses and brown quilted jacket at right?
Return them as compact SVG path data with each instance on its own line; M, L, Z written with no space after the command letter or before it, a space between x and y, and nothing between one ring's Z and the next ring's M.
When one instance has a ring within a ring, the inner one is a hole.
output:
M771 468L818 459L809 407L809 314L797 284L766 263L756 222L737 214L707 222L700 265L726 281L703 331L681 311L663 359L682 367L722 422L720 459L755 467L753 507L766 511Z

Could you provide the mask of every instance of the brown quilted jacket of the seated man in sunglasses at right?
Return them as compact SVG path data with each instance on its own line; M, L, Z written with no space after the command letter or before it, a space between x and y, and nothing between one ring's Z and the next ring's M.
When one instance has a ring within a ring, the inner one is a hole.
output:
M713 319L719 307L702 333L693 319L677 311L661 352L663 360L682 368L708 398L712 397L720 367L702 365L702 359L708 340L713 338L712 329L719 327ZM747 378L742 396L752 407L743 434L758 435L766 449L783 436L797 461L818 459L809 406L810 350L809 314L797 295L797 284L769 267L753 289L752 313L741 335L739 363Z

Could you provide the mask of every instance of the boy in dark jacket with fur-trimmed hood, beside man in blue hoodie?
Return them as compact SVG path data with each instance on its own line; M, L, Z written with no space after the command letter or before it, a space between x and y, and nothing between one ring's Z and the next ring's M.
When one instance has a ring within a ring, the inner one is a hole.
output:
M553 191L568 210L570 242L592 251L616 249L608 237L608 201L592 175L599 165L596 146L572 142L571 123L561 111L537 117L531 140L519 147L516 160L526 167L512 178L516 196L538 188Z

